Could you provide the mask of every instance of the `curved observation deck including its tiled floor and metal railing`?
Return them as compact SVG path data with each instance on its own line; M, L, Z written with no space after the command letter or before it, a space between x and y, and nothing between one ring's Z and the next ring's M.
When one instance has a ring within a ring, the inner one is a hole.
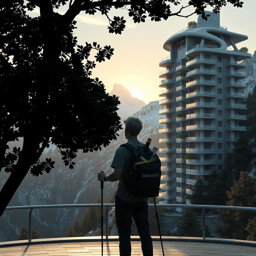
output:
M187 180L190 182L190 180ZM164 184L163 184L164 186ZM166 189L166 188L164 188ZM168 195L166 192L160 193L162 198L170 199L174 197ZM161 200L161 198L160 198ZM183 200L183 198L180 198ZM70 205L40 205L40 206L12 206L7 207L6 212L10 210L27 209L29 211L29 239L18 241L0 242L1 256L61 256L61 255L100 255L101 254L101 239L100 236L83 236L83 237L59 237L59 238L41 238L31 239L32 230L32 210L40 208L81 208L81 207L100 207L100 204L70 204ZM109 216L108 209L114 207L114 204L104 204L106 208L106 222L104 224L104 255L119 255L118 236L109 236ZM149 207L154 207L149 204ZM160 222L164 250L166 254L176 256L255 256L256 242L248 240L235 240L226 238L207 238L206 237L206 224L212 226L211 219L214 218L211 214L206 213L207 210L236 210L236 211L256 211L255 207L237 207L237 206L213 206L213 205L189 205L189 204L164 204L161 202L157 204L158 209L164 207L165 209L201 209L202 213L198 213L198 220L202 225L201 237L184 237L184 236L168 236L163 230L168 223ZM105 212L105 211L104 211ZM160 211L161 213L162 211ZM166 212L166 211L165 211ZM233 211L231 211L232 214ZM159 213L159 214L160 214ZM182 213L169 213L164 215L164 218L176 218L182 216ZM207 222L209 219L210 222ZM199 227L198 227L199 228ZM132 236L132 255L142 255L141 244L138 236ZM161 244L158 236L152 236L154 255L162 255ZM168 253L171 252L171 253Z

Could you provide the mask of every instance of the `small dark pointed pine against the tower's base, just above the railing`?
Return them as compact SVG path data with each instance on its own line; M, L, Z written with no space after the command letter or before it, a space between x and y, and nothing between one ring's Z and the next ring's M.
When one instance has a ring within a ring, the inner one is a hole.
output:
M207 204L206 186L201 178L196 180L193 193L189 197L191 204Z

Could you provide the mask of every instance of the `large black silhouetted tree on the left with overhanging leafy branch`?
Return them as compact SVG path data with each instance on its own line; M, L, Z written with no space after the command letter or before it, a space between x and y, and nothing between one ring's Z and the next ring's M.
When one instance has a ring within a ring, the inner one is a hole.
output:
M128 9L134 22L166 20L170 16L188 17L194 13L207 19L207 6L214 12L226 2L242 7L240 0L190 0L177 12L182 0L166 1L92 1L92 0L5 0L0 1L0 168L10 176L0 192L0 216L20 183L30 170L39 176L54 168L51 158L40 159L52 143L58 147L62 160L73 168L78 150L84 153L108 146L121 128L116 110L116 96L105 92L98 79L90 78L96 51L96 62L110 59L110 46L97 42L77 44L73 36L80 12L100 12L108 18L110 33L121 34L123 17L109 17L111 8ZM65 14L60 6L68 5ZM183 15L192 6L192 13ZM27 10L40 10L30 17ZM22 138L22 148L9 148L8 143Z

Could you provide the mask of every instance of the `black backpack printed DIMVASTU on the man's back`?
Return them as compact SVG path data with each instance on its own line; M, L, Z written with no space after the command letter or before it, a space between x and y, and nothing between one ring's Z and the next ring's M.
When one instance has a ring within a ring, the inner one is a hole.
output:
M130 170L123 172L124 182L128 191L136 197L148 198L158 196L161 180L161 161L155 154L154 160L150 160L153 152L143 152L143 147L135 148L131 144L122 144L131 151ZM120 146L120 147L121 147ZM142 156L145 160L140 159Z

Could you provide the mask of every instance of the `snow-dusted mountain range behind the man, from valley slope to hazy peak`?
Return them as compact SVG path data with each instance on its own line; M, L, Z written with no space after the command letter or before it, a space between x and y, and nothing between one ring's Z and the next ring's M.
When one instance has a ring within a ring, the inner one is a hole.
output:
M146 105L141 100L132 98L126 88L121 85L114 86L114 93L120 96L120 113L122 118L130 115L138 116L144 123L144 128L138 136L139 140L146 142L152 138L152 146L159 148L159 115L158 101ZM120 94L118 94L120 93ZM129 99L130 101L129 107ZM144 106L146 105L146 106ZM138 110L135 112L134 109ZM124 108L124 111L123 111ZM135 113L134 113L135 112ZM126 113L126 114L124 114ZM79 152L74 170L64 166L60 154L52 146L44 152L43 158L51 157L56 161L55 168L49 174L33 177L28 174L21 186L16 191L9 206L19 205L43 205L43 204L89 204L94 203L100 197L100 182L97 180L97 172L105 170L110 173L110 164L116 148L126 142L124 130L120 130L117 140L113 140L107 148L101 151L82 154ZM0 189L4 185L8 174L0 172ZM107 182L104 186L104 202L108 202L116 190L117 182ZM44 238L60 237L74 222L80 219L86 209L81 208L54 208L40 209L32 212L32 225L35 226ZM28 210L6 211L0 218L0 241L16 240L16 236L22 226L28 224Z

